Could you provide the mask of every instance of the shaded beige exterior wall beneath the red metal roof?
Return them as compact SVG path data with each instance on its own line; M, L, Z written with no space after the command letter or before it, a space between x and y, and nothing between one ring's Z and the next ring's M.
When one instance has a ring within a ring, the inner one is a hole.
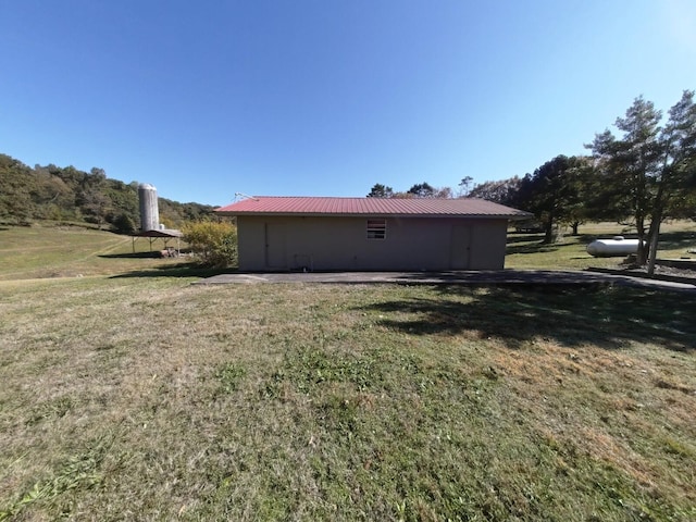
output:
M378 219L378 217L376 217ZM387 217L368 239L368 217L237 217L239 269L501 270L507 220Z

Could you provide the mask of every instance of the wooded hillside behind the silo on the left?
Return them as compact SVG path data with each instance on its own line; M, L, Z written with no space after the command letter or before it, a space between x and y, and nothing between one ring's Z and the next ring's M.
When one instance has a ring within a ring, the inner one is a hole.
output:
M177 227L200 219L213 207L159 198L160 221ZM128 234L140 224L138 182L111 179L101 169L84 172L74 166L27 166L0 154L0 223L33 221L94 223Z

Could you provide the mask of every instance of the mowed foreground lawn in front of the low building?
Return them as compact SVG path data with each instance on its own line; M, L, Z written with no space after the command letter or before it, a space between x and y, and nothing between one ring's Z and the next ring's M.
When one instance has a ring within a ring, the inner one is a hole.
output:
M696 299L4 283L0 520L696 519Z

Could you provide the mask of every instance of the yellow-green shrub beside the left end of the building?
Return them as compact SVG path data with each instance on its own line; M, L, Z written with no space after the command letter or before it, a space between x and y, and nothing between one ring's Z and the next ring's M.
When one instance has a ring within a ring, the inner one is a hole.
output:
M237 227L227 222L197 221L182 226L184 240L202 264L215 268L237 264Z

